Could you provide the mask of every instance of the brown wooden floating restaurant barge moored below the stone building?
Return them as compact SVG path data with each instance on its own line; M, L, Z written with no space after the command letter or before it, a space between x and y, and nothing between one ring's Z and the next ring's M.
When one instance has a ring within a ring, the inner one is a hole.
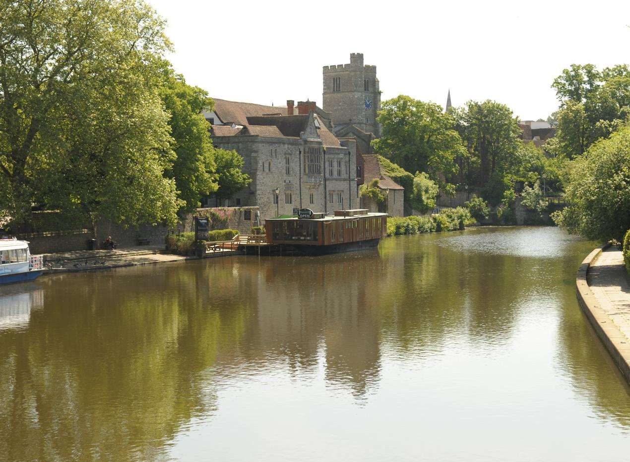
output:
M334 216L299 211L297 217L265 220L266 242L280 252L321 255L374 248L387 234L387 213L336 210Z

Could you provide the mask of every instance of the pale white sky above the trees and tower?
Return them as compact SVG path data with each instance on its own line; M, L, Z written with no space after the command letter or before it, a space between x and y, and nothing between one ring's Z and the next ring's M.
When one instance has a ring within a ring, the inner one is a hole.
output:
M322 66L364 54L382 100L491 99L522 120L558 108L573 63L630 62L630 0L147 0L166 19L178 73L210 96L322 102Z

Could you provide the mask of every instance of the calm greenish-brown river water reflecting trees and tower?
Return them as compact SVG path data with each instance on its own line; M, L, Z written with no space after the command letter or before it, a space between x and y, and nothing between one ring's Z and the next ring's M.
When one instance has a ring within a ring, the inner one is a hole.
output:
M558 228L0 288L2 461L622 461Z

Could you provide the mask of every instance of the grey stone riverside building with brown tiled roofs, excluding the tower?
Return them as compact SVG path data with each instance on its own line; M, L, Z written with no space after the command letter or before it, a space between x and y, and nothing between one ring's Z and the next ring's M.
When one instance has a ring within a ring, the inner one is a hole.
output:
M243 171L252 179L220 205L258 206L261 220L292 215L294 208L332 212L358 206L357 144L331 133L329 117L314 102L299 102L297 111L290 100L287 107L215 102L205 114L216 117L212 141L243 156Z

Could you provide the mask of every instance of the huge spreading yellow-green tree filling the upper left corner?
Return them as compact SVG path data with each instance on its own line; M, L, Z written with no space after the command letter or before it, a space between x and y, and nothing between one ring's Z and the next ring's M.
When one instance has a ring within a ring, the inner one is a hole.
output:
M16 221L31 204L175 220L161 18L140 0L0 0L0 11L0 208Z

